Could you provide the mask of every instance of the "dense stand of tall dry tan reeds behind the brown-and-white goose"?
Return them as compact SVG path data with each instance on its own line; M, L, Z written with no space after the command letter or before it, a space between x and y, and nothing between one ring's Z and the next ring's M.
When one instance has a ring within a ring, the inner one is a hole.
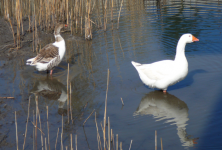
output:
M14 37L16 42L14 43L17 49L22 46L21 35L24 34L23 19L28 17L28 31L34 32L33 44L35 46L33 47L33 51L35 49L37 51L38 49L39 42L37 41L37 31L52 31L57 22L68 24L71 34L84 36L87 40L92 39L93 30L97 30L103 26L102 29L107 31L108 20L113 21L114 19L118 19L119 24L120 11L113 9L114 3L113 0L0 1L2 12L4 12L4 17L7 18L11 30L13 29L13 23L16 24L16 37ZM102 14L100 13L101 9L103 10ZM119 16L117 16L118 13ZM103 22L101 21L101 18L103 18ZM13 32L14 31L12 31L12 34L14 36L15 33Z

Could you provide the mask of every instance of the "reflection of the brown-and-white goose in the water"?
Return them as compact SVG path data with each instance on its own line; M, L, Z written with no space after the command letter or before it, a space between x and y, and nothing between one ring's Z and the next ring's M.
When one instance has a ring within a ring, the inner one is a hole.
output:
M30 92L48 100L58 100L58 113L66 114L64 105L67 100L67 90L66 87L56 78L39 79Z

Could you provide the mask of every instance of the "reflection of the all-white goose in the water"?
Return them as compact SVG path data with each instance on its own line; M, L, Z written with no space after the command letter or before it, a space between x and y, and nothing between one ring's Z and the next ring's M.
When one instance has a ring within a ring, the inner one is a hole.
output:
M167 119L166 123L176 124L177 134L182 146L194 146L196 139L190 139L186 133L188 118L187 104L177 97L160 91L153 91L145 95L134 115L151 114L157 121Z

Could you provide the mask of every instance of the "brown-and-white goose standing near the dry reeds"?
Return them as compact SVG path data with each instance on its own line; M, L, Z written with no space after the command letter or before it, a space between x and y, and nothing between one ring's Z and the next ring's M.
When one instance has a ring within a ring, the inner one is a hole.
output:
M50 70L50 75L52 75L53 68L59 65L66 51L65 40L60 35L63 27L67 25L61 23L56 25L55 42L43 47L36 57L26 61L26 65L35 66L38 71Z

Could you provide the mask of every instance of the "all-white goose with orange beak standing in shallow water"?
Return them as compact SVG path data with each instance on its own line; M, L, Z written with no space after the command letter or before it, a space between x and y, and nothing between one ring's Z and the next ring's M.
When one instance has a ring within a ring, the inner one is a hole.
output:
M162 60L151 64L140 64L132 61L140 79L151 88L158 88L166 93L168 86L183 80L188 73L188 62L185 56L187 43L199 41L192 34L184 34L177 44L174 60Z

